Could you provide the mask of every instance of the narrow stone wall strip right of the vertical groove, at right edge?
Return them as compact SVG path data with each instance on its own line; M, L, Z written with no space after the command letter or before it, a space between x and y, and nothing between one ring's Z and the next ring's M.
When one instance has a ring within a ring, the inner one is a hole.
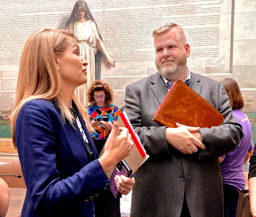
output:
M244 112L256 112L256 2L235 0L232 77L241 87Z

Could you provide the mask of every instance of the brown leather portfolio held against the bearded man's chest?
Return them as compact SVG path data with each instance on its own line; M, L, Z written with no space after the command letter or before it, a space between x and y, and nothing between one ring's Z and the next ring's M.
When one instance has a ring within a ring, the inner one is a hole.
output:
M186 126L211 128L222 124L224 117L210 103L181 80L177 80L154 115L153 121L176 128Z

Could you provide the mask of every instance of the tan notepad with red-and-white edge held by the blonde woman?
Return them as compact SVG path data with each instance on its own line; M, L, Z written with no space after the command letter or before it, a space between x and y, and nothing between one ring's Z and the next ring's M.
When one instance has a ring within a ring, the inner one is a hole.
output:
M132 175L147 160L147 158L149 158L149 155L147 155L145 149L143 148L141 141L139 139L139 136L138 134L135 133L125 111L121 112L120 116L117 119L117 123L119 127L127 128L129 130L129 133L131 134L131 140L132 140L133 146L131 148L130 155L126 157L125 160L132 169L132 173L131 173ZM120 132L118 132L117 136L119 134ZM103 152L104 152L104 147L102 149L101 154L99 155L100 157L102 156ZM107 172L106 175L108 178L111 177L113 170L114 168L109 172Z

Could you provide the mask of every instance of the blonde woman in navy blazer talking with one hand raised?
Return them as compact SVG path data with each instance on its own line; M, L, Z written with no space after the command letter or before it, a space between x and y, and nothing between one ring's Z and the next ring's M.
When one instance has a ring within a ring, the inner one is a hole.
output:
M68 31L39 29L25 44L11 116L27 186L21 216L93 217L94 200L110 185L106 172L130 153L128 130L119 128L117 137L114 123L98 158L93 129L74 95L87 81L86 65ZM122 194L134 185L133 178L116 182Z

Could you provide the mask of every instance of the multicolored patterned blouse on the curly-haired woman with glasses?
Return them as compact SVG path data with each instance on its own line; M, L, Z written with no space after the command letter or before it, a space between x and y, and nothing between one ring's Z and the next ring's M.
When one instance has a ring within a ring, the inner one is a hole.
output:
M109 106L106 106L106 107L99 107L97 105L94 105L94 106L87 105L85 109L87 114L89 114L90 116L88 120L89 123L91 123L91 121L94 118L101 117L102 115L108 115L109 121L113 123L113 121L116 121L121 113L119 108L113 104L110 104ZM101 125L98 125L95 128L95 132L91 136L95 140L107 140L109 133L110 133L109 129L102 129Z

